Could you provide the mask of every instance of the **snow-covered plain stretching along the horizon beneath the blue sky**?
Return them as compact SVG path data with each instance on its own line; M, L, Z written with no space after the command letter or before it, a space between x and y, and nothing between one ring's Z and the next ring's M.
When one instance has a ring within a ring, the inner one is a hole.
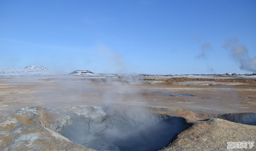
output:
M78 70L74 74L68 74L70 72L61 72L61 71L51 71L51 70L42 70L35 68L0 68L0 78L10 78L10 77L41 77L47 76L49 78L54 77L66 77L66 78L149 78L156 77L161 79L169 78L218 78L218 79L240 79L240 78L256 78L256 73L225 73L225 74L103 74L103 73L84 73L82 70Z

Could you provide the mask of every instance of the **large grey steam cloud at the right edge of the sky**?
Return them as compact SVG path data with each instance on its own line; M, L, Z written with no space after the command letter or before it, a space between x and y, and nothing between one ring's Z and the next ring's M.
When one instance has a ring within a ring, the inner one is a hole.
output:
M256 72L256 56L250 57L244 45L238 44L238 38L227 38L222 48L231 51L233 59L241 70Z

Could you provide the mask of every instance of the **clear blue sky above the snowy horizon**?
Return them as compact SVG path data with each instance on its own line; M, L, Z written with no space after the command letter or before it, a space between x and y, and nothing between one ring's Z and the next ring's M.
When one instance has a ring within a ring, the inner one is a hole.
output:
M0 68L256 72L255 0L0 0Z

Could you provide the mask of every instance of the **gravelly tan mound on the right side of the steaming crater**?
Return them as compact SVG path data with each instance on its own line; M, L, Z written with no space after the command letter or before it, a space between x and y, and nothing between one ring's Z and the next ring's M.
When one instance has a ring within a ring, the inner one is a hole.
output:
M176 136L176 139L159 151L180 150L231 150L227 149L227 142L255 141L256 126L237 124L219 118L198 121ZM232 149L232 150L256 150Z

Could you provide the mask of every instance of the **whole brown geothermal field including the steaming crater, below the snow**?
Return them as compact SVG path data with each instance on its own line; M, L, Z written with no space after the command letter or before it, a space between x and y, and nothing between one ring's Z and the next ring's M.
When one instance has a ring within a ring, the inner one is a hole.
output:
M0 150L227 150L256 138L255 79L43 78L1 79Z

